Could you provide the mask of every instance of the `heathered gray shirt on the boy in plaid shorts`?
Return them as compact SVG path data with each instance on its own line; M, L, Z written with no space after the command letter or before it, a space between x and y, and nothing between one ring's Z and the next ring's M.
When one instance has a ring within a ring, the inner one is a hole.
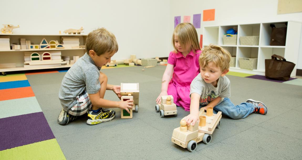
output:
M80 95L84 90L88 94L97 93L100 88L100 69L95 66L92 58L85 53L78 59L65 74L61 88L59 90L59 99L64 110L69 110L76 104L76 96Z

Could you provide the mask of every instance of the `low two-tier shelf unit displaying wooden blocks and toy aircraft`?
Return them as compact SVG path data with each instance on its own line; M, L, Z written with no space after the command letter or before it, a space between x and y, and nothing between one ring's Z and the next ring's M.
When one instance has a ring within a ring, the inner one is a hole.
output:
M10 44L20 43L20 38L30 40L32 44L40 44L43 38L50 42L57 40L60 43L60 37L79 38L79 45L85 45L87 35L84 34L0 34L2 36L9 36ZM64 44L63 44L64 45ZM2 63L16 63L16 68L0 68L0 72L11 71L24 71L24 70L37 70L37 69L54 69L54 68L68 68L72 65L62 66L45 66L45 67L24 67L24 52L37 52L37 51L61 51L61 56L83 56L85 48L45 48L45 49L26 49L26 50L0 50L0 64Z

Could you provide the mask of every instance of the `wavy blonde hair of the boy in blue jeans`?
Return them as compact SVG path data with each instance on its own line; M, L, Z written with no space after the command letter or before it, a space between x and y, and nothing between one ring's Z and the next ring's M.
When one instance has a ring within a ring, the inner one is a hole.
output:
M198 62L200 67L207 67L210 62L215 66L220 67L221 71L230 68L231 54L221 46L210 44L205 46L199 56Z

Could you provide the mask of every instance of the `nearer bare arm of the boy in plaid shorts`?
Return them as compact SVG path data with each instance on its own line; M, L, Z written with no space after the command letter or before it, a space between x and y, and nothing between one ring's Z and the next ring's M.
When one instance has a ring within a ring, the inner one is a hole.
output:
M89 94L90 101L92 105L102 108L120 108L129 111L128 109L132 109L133 101L109 101L103 98L100 98L99 93ZM128 112L130 113L130 111Z

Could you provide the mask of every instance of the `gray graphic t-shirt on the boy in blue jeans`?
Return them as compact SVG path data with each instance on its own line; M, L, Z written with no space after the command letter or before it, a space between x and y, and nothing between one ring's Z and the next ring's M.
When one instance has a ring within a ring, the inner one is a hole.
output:
M199 94L200 105L207 105L210 101L214 100L218 96L221 97L221 101L223 98L231 96L230 80L226 76L220 76L217 82L217 87L214 87L212 84L204 82L204 80L201 78L201 73L199 73L191 82L190 87L190 97L192 93Z

